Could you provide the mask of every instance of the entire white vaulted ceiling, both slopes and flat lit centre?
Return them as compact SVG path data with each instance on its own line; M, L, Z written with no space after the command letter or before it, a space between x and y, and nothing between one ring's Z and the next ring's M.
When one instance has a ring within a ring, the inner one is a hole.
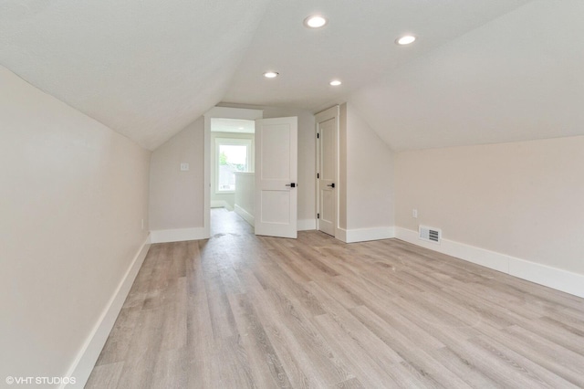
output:
M406 150L584 134L583 19L581 0L6 0L0 64L151 150L220 101L346 100Z

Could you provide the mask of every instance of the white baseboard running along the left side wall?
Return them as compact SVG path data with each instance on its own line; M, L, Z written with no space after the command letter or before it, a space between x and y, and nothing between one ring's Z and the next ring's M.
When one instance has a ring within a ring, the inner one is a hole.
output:
M95 363L98 361L99 353L106 344L108 336L110 336L110 331L113 328L116 319L118 319L121 307L128 297L130 288L134 283L134 279L136 279L136 276L138 275L138 271L140 270L150 247L151 237L149 236L132 260L130 267L126 270L126 274L121 279L118 288L111 296L108 305L101 313L101 316L99 316L99 320L93 328L93 331L89 334L89 337L83 344L80 352L78 352L77 358L68 370L66 376L75 377L76 383L67 385L61 384L59 386L60 388L64 388L65 386L67 386L68 389L82 388L87 384L89 374L91 374Z

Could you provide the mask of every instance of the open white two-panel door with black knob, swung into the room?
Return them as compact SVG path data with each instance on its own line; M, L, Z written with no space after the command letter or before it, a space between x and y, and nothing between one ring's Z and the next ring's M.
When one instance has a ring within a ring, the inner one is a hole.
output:
M297 237L297 117L255 121L255 235Z

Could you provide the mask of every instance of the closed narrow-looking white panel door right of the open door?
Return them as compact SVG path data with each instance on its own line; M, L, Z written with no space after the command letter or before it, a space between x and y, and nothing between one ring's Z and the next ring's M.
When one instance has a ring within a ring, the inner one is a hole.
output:
M335 236L337 226L337 116L317 115L318 230Z

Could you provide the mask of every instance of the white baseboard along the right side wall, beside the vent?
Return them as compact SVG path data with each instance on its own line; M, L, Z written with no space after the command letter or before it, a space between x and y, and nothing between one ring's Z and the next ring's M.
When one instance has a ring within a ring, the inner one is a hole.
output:
M518 279L526 279L548 288L557 289L584 298L584 275L561 268L552 268L537 262L496 253L485 248L464 245L464 243L442 239L440 245L425 242L417 231L395 227L396 237L416 246L429 248L468 262L492 268Z

